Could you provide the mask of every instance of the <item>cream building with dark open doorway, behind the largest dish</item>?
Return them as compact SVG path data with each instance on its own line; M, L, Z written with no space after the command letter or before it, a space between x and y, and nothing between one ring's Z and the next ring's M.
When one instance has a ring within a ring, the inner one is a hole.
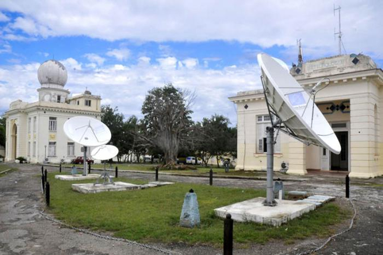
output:
M305 145L279 133L274 147L274 171L287 163L288 174L307 169L348 171L350 177L383 175L383 71L365 55L340 55L293 67L290 73L305 89L323 77L331 82L315 102L342 146L340 155ZM270 125L263 90L238 92L238 159L236 169L266 169L266 126ZM247 109L245 108L247 105Z

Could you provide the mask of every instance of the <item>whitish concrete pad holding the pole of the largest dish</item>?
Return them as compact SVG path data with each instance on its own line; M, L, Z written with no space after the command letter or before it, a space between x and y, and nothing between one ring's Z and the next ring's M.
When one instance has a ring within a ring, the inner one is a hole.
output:
M272 226L280 226L288 220L314 210L314 203L304 202L303 200L291 201L282 200L276 206L264 206L265 198L253 198L243 202L231 204L214 209L218 217L225 218L226 214L231 214L231 219L238 222L257 222Z

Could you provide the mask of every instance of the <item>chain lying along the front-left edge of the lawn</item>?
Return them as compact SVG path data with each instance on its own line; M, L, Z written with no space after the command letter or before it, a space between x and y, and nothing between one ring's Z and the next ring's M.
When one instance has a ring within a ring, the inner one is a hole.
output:
M162 252L164 254L177 254L177 255L182 255L182 253L180 252L177 252L177 251L171 251L171 250L165 250L165 249L161 249L161 248L158 248L156 246L152 246L152 245L147 245L147 244L141 244L141 243L138 243L136 241L131 241L131 240L127 240L127 239L123 239L123 238L116 238L116 237L110 237L110 236L105 236L105 235L101 235L99 233L95 233L93 231L90 231L88 229L83 229L83 228L78 228L78 227L74 227L74 226L71 226L69 224L66 224L66 223L63 223L59 220L56 220L50 216L48 216L47 214L44 213L44 210L42 211L39 211L40 215L42 215L45 219L47 220L50 220L54 223L57 223L57 224L60 224L62 226L65 226L65 227L68 227L68 228L71 228L73 230L76 230L76 231L80 231L80 232L83 232L83 233L87 233L89 235L92 235L94 237L98 237L98 238L102 238L102 239L106 239L106 240L112 240L112 241L120 241L120 242L124 242L124 243L128 243L128 244L133 244L133 245L137 245L138 247L143 247L143 248L147 248L147 249L152 249L152 250L155 250L155 251L158 251L158 252Z

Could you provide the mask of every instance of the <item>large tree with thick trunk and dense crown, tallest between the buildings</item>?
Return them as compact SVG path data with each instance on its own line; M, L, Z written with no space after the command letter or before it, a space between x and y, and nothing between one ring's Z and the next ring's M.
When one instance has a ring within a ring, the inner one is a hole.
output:
M148 92L142 105L144 130L141 138L157 146L166 165L175 165L180 144L188 138L192 125L190 105L195 95L181 91L171 83Z

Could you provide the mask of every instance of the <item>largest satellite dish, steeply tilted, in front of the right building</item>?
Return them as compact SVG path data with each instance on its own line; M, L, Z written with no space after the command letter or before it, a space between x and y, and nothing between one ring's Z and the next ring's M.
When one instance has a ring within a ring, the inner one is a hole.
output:
M268 107L280 118L279 130L306 144L341 153L341 144L311 95L286 72L286 64L267 54L258 54Z

